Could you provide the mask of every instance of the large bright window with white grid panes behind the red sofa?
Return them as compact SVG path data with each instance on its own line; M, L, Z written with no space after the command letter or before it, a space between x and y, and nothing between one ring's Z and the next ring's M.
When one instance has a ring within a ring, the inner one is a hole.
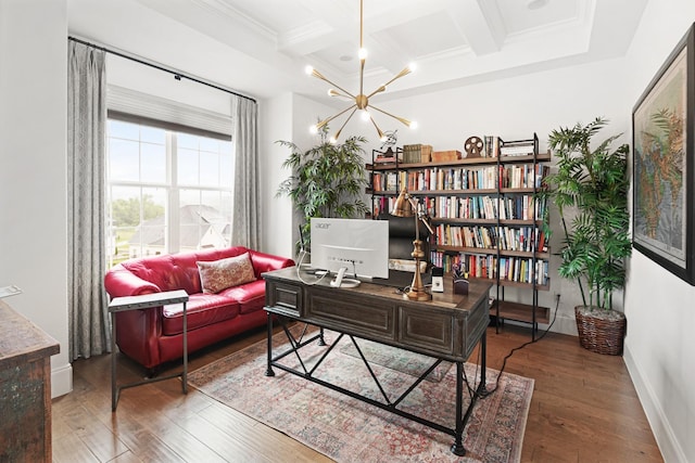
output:
M231 236L230 141L109 119L109 267Z

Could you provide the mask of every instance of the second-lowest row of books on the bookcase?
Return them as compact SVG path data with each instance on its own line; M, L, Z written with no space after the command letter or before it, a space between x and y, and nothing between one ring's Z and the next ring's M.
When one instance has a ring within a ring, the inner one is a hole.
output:
M434 231L435 243L441 246L547 252L545 232L539 227L455 227L440 223Z

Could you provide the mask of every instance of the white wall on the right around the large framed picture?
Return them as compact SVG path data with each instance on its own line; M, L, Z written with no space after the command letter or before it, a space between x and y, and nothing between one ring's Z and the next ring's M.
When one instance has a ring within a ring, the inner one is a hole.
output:
M623 110L626 118L631 117L632 106L693 21L692 0L649 2L626 60L630 69L630 78L623 82L630 97L630 106ZM693 205L690 210L695 210ZM626 363L661 453L669 462L693 462L695 287L634 252L626 313Z

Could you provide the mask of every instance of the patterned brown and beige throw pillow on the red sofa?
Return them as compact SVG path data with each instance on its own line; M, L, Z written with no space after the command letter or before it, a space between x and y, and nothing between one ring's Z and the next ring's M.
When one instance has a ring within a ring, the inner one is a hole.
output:
M219 293L231 286L238 286L256 276L249 253L213 261L198 261L200 281L204 293Z

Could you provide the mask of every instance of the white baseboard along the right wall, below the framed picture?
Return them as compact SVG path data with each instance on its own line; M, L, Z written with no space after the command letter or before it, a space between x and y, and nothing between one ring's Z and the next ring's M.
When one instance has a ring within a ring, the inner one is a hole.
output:
M661 451L661 456L666 462L685 462L687 461L683 448L679 445L675 434L671 428L668 416L664 413L659 401L657 400L654 389L649 386L649 383L644 381L644 375L640 370L639 364L635 362L630 346L624 347L622 359L628 366L628 373L632 378L632 384L642 403L642 409L647 416L647 422L652 427L652 433L656 439L656 443Z

